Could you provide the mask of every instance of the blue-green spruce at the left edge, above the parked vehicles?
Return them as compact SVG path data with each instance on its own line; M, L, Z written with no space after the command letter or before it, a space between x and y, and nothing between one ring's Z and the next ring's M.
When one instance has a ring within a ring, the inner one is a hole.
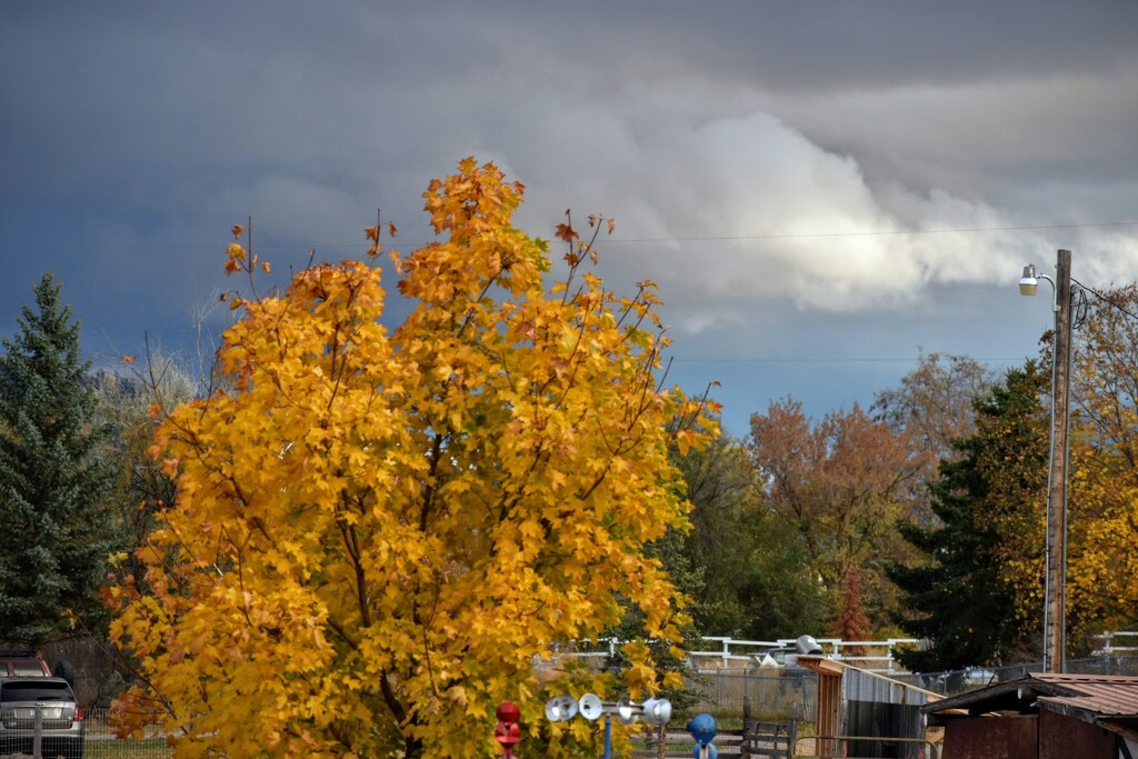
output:
M110 468L80 354L80 324L51 272L0 356L0 641L40 645L104 619Z

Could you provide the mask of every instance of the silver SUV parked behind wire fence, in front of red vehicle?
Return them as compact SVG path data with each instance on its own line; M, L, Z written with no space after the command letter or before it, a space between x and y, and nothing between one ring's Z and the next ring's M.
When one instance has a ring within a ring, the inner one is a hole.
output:
M83 710L61 677L0 678L0 756L33 753L83 759Z

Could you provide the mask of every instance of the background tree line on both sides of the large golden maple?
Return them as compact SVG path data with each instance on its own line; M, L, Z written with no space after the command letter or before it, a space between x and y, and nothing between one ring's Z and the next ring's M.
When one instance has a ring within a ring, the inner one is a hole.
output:
M1138 624L1138 286L1096 295L1075 331L1073 655ZM157 355L92 372L50 272L33 296L0 357L0 642L39 646L105 638L100 589L145 592L137 552L178 497L152 405L224 376ZM1038 660L1049 340L1003 374L922 353L868 409L811 419L787 396L744 438L676 445L691 528L654 555L690 599L687 633L914 636L918 670Z

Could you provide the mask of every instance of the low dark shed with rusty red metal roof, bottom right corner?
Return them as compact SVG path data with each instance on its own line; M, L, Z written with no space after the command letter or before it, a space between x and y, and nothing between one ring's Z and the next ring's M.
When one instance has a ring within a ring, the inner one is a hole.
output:
M921 711L942 759L1138 759L1138 677L1036 673Z

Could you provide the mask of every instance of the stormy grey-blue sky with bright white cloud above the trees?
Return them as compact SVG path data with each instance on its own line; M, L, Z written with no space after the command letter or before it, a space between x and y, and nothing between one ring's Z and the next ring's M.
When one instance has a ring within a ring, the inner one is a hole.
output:
M377 209L410 250L468 155L533 234L616 218L600 273L660 286L670 379L742 436L1034 356L1057 248L1138 280L1138 3L2 3L0 335L51 269L96 363L189 356L233 223L278 281Z

